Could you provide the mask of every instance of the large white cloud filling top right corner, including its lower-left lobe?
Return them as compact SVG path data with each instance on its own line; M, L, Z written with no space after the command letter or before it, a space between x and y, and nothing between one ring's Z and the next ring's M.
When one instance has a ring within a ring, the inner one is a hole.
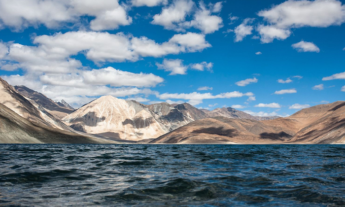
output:
M291 28L341 25L345 22L345 6L339 0L287 0L259 11L258 16L268 23L257 29L261 42L269 43L289 37Z

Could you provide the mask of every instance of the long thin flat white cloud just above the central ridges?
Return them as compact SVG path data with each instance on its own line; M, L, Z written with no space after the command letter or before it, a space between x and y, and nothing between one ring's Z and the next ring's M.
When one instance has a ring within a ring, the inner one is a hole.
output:
M204 99L230 99L230 98L240 98L243 96L253 96L254 94L251 92L247 93L241 93L238 91L233 92L227 92L227 93L221 93L218 95L212 95L211 93L199 93L199 92L193 92L189 94L171 94L171 93L164 93L164 94L156 94L157 98L161 100L167 100L167 99L183 99L188 100L189 104L197 105L203 103Z

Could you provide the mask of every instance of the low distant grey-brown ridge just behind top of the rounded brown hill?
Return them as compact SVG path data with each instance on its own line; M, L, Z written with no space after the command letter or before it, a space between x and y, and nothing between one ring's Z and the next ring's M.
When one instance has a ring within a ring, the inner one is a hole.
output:
M251 120L257 120L257 121L279 118L279 116L267 116L267 117L252 116L248 113L236 110L235 108L232 108L232 107L215 108L212 111L207 112L206 114L209 117L224 116L231 119L251 119Z

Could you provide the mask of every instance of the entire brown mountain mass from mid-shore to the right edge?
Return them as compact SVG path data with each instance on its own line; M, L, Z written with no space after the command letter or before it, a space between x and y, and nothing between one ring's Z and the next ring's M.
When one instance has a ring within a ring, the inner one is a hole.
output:
M345 102L316 105L273 120L197 120L150 143L345 143Z

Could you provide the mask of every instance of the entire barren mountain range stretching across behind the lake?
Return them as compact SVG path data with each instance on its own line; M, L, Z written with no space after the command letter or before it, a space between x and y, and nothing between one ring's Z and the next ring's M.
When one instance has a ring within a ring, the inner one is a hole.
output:
M345 102L285 118L112 96L74 109L0 78L0 143L343 143Z

